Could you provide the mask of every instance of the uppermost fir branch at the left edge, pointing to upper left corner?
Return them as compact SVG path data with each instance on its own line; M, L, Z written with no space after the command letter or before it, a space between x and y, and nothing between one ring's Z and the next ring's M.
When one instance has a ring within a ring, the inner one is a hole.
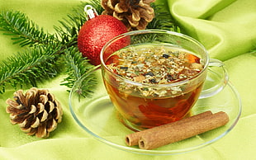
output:
M14 44L25 45L47 45L55 40L54 35L45 33L43 28L39 28L35 22L21 12L1 12L0 30L5 35L12 35Z

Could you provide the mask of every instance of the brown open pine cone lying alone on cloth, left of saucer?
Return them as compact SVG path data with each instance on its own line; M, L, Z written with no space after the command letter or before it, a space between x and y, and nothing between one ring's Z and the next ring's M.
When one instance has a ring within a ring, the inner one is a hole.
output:
M11 114L11 123L18 124L26 134L48 138L62 120L59 101L47 89L32 87L25 95L19 90L14 92L14 100L7 99L6 111Z

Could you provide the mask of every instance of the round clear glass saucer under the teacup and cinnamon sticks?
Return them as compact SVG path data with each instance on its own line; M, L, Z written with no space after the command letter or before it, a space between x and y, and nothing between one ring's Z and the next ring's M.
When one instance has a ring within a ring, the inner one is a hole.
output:
M230 117L229 123L225 126L153 150L140 149L138 146L129 147L126 145L125 137L126 134L131 134L133 131L126 128L119 120L116 109L112 105L102 82L101 70L98 69L95 73L98 83L97 87L93 90L92 96L87 98L79 97L75 92L77 91L78 84L74 85L69 94L70 111L78 125L87 131L88 134L91 134L92 137L103 144L108 144L111 147L127 152L171 155L187 153L206 147L225 136L225 134L228 134L236 125L241 114L242 106L239 94L235 87L228 82L226 87L215 96L199 99L191 111L191 115L197 115L204 111L212 111L213 113L225 111Z

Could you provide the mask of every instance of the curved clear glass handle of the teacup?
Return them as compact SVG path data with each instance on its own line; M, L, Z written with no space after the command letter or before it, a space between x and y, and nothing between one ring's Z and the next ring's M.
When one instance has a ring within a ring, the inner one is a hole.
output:
M206 82L199 98L207 98L222 91L229 82L225 64L218 59L210 59Z

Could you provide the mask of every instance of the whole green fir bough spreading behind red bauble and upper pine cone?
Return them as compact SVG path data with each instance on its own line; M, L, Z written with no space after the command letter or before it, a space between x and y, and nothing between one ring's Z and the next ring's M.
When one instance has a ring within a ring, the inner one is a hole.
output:
M89 64L77 48L78 33L86 21L83 11L86 5L94 7L98 14L103 11L101 0L81 2L73 9L73 13L59 21L60 26L54 26L54 34L45 32L24 13L0 13L0 30L4 35L11 35L14 44L27 46L24 51L0 62L0 93L5 92L8 85L14 88L24 85L36 87L37 82L54 78L62 70L67 74L62 85L71 88L78 84L76 92L82 96L92 92L97 82L92 71L97 67ZM159 12L161 6L155 4L152 7L155 18L149 23L148 29L178 31L178 26L168 12ZM65 67L60 69L59 66Z

